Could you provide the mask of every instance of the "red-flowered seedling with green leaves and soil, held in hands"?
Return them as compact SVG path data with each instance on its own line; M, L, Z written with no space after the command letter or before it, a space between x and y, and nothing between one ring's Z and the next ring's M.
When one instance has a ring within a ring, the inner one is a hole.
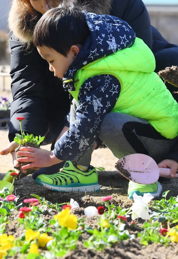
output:
M23 146L27 146L27 147L35 147L35 148L39 148L40 143L44 140L45 137L40 137L38 138L38 136L34 137L33 134L28 134L28 133L24 133L24 131L22 132L22 121L24 120L24 117L17 117L17 120L20 122L20 130L21 130L21 135L16 133L16 137L14 138L14 141L16 143L19 144L19 146L15 149L16 151L16 159L18 159L19 157L23 157L23 156L18 156L17 152L20 151L20 147ZM23 165L29 164L30 162L19 162L20 166L22 167ZM34 170L32 169L27 169L26 174L20 174L19 178L22 178L28 174L31 174L32 172L34 172Z

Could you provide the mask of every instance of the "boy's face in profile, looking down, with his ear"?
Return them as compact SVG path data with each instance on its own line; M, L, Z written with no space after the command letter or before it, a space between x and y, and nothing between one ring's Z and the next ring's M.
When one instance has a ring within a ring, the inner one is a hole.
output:
M72 48L74 46L74 49ZM78 52L75 50L77 46L73 45L67 54L67 57L64 57L62 54L57 52L55 49L50 49L46 46L37 47L38 52L49 63L49 70L54 72L54 76L59 76L61 79L65 72L67 72L68 67L72 64Z

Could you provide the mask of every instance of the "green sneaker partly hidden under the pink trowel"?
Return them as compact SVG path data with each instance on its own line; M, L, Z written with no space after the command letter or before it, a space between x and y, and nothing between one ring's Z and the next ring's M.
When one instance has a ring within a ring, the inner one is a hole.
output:
M143 196L144 193L151 193L155 198L155 197L159 197L159 195L161 194L162 186L158 181L152 184L140 184L140 183L129 181L128 199L133 199L134 192L138 196Z

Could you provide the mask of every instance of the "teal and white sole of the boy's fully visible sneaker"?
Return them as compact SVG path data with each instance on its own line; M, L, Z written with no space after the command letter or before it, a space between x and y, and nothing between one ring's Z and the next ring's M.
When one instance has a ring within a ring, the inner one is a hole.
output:
M50 185L48 183L42 182L41 179L36 178L35 183L37 185L46 187L52 191L58 191L58 192L71 192L71 193L76 193L76 192L97 192L100 191L100 185L98 183L93 184L93 185L82 185L80 184L77 187L65 187L65 186L56 186L56 185Z

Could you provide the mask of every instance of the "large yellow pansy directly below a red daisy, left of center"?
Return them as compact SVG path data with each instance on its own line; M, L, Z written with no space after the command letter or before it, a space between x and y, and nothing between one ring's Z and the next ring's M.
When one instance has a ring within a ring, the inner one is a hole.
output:
M70 214L70 209L65 208L65 210L62 210L57 215L54 216L55 219L57 219L60 227L67 227L67 229L76 229L77 228L77 221L78 218Z

